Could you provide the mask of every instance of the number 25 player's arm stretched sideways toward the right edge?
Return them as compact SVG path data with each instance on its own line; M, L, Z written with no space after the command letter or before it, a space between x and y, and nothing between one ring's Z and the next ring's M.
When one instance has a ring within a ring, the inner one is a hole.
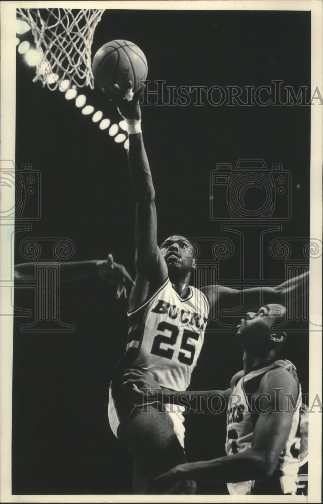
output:
M231 289L222 285L208 285L201 290L208 298L210 305L219 303L222 308L234 306L251 309L261 304L277 303L288 305L289 299L302 297L308 292L309 272L298 275L275 287L252 287L248 289Z

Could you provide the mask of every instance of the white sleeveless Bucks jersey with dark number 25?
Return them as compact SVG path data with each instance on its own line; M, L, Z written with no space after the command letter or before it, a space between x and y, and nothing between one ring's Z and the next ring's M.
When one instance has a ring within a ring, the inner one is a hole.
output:
M200 354L209 314L206 296L195 287L182 299L167 279L137 310L128 313L129 332L123 367L140 367L162 387L185 390ZM128 356L128 358L127 358Z

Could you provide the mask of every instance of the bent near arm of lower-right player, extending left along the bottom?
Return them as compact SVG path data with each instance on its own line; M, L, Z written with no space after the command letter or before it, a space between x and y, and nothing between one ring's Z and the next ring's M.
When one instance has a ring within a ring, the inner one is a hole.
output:
M214 460L176 466L156 478L150 493L169 493L174 485L186 479L238 482L270 477L286 445L297 396L298 386L293 376L285 369L269 371L256 396L260 414L251 448Z

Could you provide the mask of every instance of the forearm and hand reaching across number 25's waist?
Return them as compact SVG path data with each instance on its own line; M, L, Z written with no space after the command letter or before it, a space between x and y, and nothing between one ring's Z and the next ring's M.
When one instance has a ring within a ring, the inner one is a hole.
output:
M160 387L151 373L141 369L126 369L123 373L123 392L128 391L135 404L145 401L159 401L163 404L184 406L187 410L199 411L209 415L226 412L229 395L227 390L182 390L174 391Z

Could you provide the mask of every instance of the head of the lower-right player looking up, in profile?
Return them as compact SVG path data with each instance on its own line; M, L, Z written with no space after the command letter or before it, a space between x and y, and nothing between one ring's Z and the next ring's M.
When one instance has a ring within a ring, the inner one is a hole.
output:
M286 339L283 331L273 326L283 323L286 308L281 304L266 304L257 313L248 312L237 326L236 335L245 351L264 354L271 350L280 350Z

